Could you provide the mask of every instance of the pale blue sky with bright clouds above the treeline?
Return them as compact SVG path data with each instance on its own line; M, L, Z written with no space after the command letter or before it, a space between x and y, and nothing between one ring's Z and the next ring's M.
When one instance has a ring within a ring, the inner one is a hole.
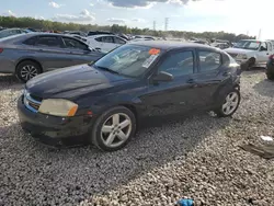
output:
M2 2L2 3L1 3ZM273 0L0 0L0 15L81 24L192 32L225 31L274 39Z

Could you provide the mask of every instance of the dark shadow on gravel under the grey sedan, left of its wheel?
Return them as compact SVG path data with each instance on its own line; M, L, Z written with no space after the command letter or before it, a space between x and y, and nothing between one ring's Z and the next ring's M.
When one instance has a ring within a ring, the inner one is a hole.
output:
M0 75L0 91L5 89L22 90L24 83L20 82L13 75Z

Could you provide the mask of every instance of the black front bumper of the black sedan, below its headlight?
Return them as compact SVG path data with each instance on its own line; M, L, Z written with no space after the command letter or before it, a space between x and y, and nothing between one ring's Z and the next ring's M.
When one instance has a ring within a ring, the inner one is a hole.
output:
M18 114L22 128L36 138L69 138L84 135L93 125L91 116L57 117L34 113L18 100Z

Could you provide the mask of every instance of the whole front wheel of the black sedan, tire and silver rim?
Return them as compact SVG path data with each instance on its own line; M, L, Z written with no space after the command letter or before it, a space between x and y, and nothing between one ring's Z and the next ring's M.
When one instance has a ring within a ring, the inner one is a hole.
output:
M124 125L122 126L121 123ZM128 126L125 126L126 123ZM103 131L104 126L105 131ZM124 135L121 134L121 130ZM135 131L136 117L134 113L124 106L117 106L106 111L95 121L89 135L89 141L103 151L116 151L128 144Z

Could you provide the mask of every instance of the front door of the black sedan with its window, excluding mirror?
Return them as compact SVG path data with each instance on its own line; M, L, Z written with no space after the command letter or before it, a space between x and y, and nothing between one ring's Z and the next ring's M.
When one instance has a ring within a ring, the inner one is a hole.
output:
M172 52L157 66L157 72L164 71L173 76L170 82L149 81L148 92L141 102L146 105L147 116L164 116L186 112L193 108L195 87L193 84L194 50L185 49Z

